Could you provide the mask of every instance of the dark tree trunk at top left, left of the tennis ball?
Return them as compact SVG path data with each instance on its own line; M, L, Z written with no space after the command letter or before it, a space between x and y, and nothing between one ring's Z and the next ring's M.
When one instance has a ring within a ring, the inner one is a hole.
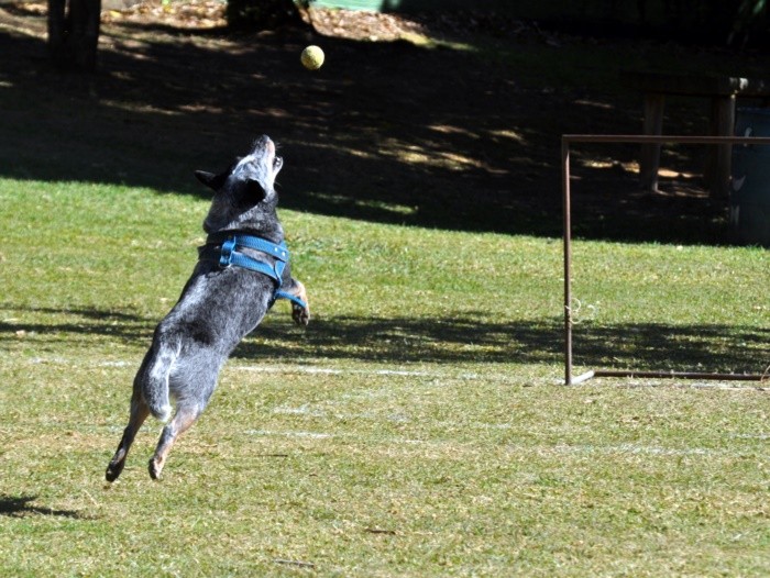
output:
M57 67L96 69L100 13L101 0L48 0L48 51Z

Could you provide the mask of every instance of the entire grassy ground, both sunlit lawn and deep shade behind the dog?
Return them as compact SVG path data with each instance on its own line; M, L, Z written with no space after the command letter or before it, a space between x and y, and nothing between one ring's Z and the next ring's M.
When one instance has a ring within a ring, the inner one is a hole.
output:
M560 386L559 238L560 135L639 129L619 70L761 76L767 55L140 10L106 14L100 71L73 76L47 68L44 14L0 7L0 576L770 575L768 384ZM695 100L668 133L707 126ZM310 325L278 302L163 479L148 421L108 486L204 241L191 171L260 132ZM767 371L770 253L722 244L702 151L663 152L666 194L638 193L637 153L574 156L575 371Z

